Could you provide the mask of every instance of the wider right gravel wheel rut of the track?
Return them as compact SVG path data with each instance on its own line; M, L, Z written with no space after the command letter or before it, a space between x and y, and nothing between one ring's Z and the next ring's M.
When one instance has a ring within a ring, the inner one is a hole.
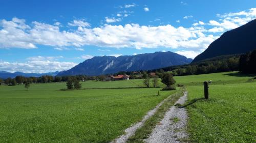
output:
M180 97L175 104L184 104L186 98L187 92L184 92L184 96ZM184 130L187 118L188 116L184 107L170 107L160 124L153 129L150 137L144 141L148 143L181 142L180 140L184 140L188 137L188 134Z

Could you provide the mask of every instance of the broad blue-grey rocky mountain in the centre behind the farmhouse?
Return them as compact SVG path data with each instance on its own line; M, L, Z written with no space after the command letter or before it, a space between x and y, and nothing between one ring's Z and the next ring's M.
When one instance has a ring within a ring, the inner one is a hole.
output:
M155 52L137 55L95 56L70 70L60 72L61 75L100 75L119 71L135 71L158 69L173 65L189 64L192 59L174 52Z

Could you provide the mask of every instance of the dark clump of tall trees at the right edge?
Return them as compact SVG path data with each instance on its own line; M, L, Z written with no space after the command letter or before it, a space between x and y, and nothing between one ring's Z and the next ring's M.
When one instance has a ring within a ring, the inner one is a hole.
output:
M239 70L241 73L256 73L256 50L240 56Z

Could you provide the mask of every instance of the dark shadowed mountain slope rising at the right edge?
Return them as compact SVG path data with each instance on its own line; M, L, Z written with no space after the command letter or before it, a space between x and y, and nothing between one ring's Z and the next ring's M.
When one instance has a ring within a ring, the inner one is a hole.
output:
M199 54L193 62L214 58L219 55L244 53L256 49L256 20L234 30L225 32L219 39Z

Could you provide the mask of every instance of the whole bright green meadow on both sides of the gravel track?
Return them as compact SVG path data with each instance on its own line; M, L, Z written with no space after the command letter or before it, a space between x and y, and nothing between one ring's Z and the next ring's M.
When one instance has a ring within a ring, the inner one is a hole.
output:
M256 142L254 77L238 72L175 76L188 91L186 141ZM206 80L212 80L209 100L203 99ZM179 91L143 88L142 81L85 81L83 90L73 91L60 90L65 82L31 84L29 91L24 85L0 85L0 142L109 142ZM150 134L151 121L146 123Z

